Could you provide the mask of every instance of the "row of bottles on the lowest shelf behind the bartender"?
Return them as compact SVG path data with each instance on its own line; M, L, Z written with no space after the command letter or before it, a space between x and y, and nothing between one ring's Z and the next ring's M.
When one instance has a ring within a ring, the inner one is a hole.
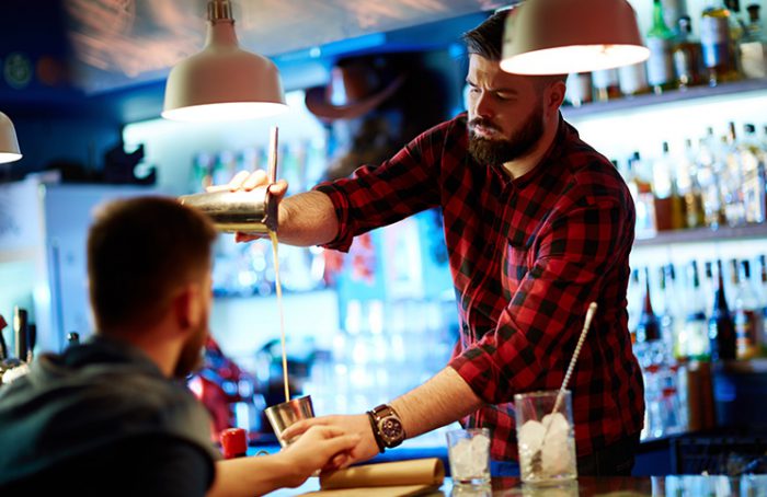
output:
M684 277L677 277L680 270ZM691 261L684 268L634 269L628 299L629 328L645 368L675 359L751 359L767 351L764 254L702 267Z

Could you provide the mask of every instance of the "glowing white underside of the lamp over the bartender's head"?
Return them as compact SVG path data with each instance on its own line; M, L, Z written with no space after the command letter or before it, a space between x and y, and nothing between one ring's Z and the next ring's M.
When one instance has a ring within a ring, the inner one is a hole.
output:
M517 74L566 74L630 66L646 60L650 50L637 45L576 45L518 54L501 61Z

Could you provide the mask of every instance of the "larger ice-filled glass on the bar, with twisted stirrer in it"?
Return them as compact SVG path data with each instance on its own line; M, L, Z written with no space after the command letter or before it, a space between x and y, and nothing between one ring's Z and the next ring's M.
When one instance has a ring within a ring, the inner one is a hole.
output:
M570 391L553 412L559 390L514 395L523 483L556 485L577 477Z

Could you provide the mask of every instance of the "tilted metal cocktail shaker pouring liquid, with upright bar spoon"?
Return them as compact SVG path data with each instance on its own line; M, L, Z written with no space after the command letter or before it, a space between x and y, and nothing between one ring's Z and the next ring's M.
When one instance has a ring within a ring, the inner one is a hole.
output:
M268 155L268 185L277 180L277 127L272 128ZM279 201L268 190L268 185L245 190L215 190L182 195L179 201L207 215L217 230L266 234L277 231Z

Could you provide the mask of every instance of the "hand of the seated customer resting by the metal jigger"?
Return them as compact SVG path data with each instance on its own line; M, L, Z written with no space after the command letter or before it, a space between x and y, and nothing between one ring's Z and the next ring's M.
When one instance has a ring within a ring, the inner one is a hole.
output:
M313 426L306 429L295 442L275 454L284 461L291 474L284 484L297 487L317 470L339 470L352 462L351 453L360 442L357 434L337 426Z

